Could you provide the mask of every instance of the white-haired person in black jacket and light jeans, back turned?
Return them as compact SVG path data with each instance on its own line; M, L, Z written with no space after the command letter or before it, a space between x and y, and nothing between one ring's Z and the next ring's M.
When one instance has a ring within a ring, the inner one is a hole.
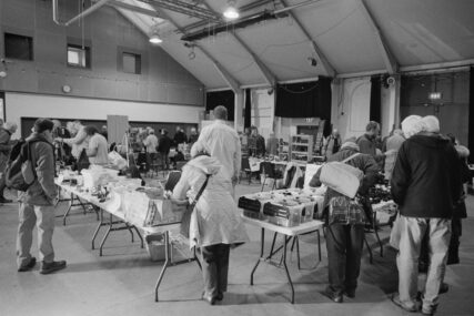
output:
M446 267L450 244L450 220L453 205L461 197L457 153L437 133L426 132L421 119L402 122L410 136L400 147L393 170L391 190L400 207L399 293L393 302L416 312L418 256L423 237L430 245L430 267L423 293L423 313L434 314ZM420 128L422 125L422 128ZM437 123L438 125L438 123ZM412 133L412 131L420 131Z

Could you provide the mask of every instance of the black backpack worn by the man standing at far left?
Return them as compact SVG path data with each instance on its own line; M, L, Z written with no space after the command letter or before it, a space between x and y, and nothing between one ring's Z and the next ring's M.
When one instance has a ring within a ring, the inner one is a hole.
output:
M21 139L12 147L4 171L8 187L24 192L37 180L37 172L31 161L31 144L36 142L47 143L42 140L26 141Z

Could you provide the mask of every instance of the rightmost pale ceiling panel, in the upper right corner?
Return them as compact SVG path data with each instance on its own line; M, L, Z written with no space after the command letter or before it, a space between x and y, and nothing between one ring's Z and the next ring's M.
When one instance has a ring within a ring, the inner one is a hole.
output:
M402 65L474 58L474 1L371 0L367 4Z

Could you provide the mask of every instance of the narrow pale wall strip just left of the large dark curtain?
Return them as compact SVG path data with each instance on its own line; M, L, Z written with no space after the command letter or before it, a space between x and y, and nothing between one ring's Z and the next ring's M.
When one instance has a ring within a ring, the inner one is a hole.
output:
M269 94L268 89L252 90L252 125L259 129L259 133L266 140L273 131L275 112L275 95Z

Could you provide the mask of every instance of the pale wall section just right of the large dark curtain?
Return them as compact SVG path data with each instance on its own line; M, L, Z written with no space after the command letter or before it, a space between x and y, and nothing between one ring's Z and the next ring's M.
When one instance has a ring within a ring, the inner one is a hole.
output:
M370 118L371 78L345 79L339 84L332 93L333 124L343 140L360 136Z

